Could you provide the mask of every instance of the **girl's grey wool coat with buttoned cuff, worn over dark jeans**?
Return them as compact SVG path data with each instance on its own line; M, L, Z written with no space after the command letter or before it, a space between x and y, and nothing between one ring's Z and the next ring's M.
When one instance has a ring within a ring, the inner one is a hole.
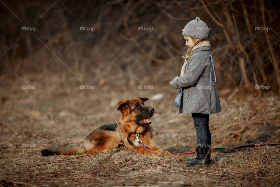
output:
M186 65L185 74L172 80L175 89L181 89L179 113L216 114L221 111L220 98L212 70L211 85L210 47L204 46L196 49L190 55ZM206 51L207 53L205 53ZM214 67L213 67L214 68Z

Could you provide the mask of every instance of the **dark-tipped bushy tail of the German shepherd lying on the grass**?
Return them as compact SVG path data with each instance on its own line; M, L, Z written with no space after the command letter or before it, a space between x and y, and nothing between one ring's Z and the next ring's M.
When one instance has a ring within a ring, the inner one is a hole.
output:
M62 149L55 149L55 150L51 150L51 149L43 149L41 151L43 156L48 156L48 155L76 155L76 154L83 154L86 153L87 150L85 147L81 146L83 144L80 145L69 145L69 146L65 146Z

